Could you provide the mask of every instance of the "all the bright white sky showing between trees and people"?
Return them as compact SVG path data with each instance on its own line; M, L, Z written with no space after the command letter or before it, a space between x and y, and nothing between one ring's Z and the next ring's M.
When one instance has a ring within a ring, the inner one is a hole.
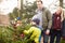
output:
M26 0L24 0L24 4ZM34 2L36 0L27 0L28 2ZM55 4L58 5L58 0L42 0L43 5L50 9L51 13L55 12ZM3 0L0 2L0 14L6 15L13 11L14 8L17 6L17 0Z

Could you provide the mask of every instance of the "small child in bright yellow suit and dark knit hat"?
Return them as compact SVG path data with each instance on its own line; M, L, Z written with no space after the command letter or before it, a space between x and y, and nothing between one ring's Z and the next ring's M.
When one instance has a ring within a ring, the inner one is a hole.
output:
M34 41L36 42L36 43L39 43L39 38L40 38L40 34L41 34L41 30L39 29L39 19L38 18L35 18L35 19L32 19L31 22L30 22L30 25L32 25L32 27L30 27L29 28L29 30L25 30L24 31L24 33L30 33L30 32L32 32L32 34L31 34L31 37L30 37L30 39L31 38L34 38L35 37L35 39L34 39Z

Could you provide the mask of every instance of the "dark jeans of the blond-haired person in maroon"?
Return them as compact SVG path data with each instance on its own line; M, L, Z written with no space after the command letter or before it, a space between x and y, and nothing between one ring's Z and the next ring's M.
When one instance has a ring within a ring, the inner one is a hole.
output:
M56 37L55 43L60 43L61 41L61 30L51 30L50 43L54 43L54 39Z

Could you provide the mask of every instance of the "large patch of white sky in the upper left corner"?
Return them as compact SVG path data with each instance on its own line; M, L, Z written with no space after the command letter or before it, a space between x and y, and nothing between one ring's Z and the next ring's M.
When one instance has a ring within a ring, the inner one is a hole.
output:
M0 14L9 14L15 6L17 6L17 0L3 0L0 3Z

